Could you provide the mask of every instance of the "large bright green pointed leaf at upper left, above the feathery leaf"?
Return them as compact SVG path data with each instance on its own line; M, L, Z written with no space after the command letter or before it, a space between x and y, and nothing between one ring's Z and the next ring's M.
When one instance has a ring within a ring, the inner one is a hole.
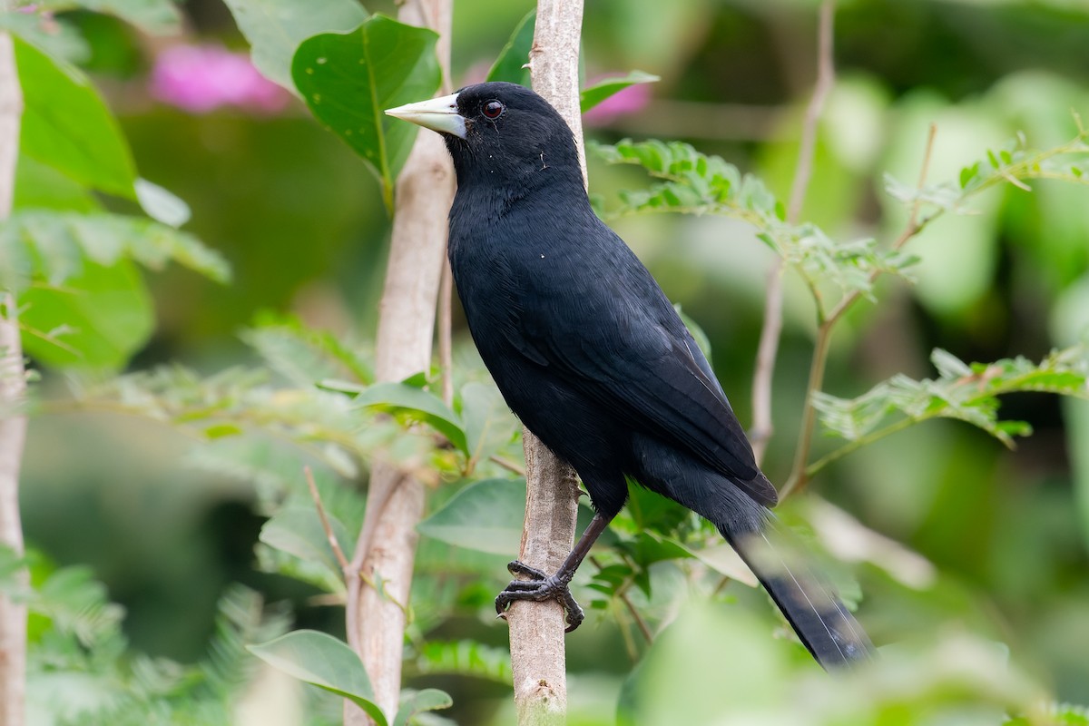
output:
M86 186L135 198L132 152L90 82L19 39L15 62L23 87L23 153Z

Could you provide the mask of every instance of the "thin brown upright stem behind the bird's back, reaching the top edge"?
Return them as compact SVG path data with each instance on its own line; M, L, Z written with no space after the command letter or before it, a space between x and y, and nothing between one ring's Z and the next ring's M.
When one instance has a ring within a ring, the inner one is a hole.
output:
M835 2L824 0L820 8L818 29L817 83L813 86L813 95L809 99L809 106L806 108L805 122L802 127L802 143L798 147L798 162L794 170L794 182L791 185L791 198L787 204L786 221L790 224L797 224L798 218L802 216L806 189L808 189L809 180L812 176L817 126L828 101L828 95L835 84L835 63L832 54L834 22ZM771 384L782 330L783 259L776 258L771 270L768 271L763 328L760 331L756 372L752 377L752 430L749 432L749 439L752 442L752 452L758 465L763 460L768 441L774 432L771 416Z

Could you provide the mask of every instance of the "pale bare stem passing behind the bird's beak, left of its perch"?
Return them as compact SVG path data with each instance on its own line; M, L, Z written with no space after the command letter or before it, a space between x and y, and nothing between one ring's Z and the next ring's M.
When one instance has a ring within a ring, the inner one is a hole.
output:
M439 34L437 49L450 77L452 0L406 0L397 20ZM431 365L436 304L446 245L453 169L438 134L421 133L397 179L390 260L379 311L376 378L402 380ZM375 700L390 718L401 693L401 662L424 483L389 465L375 465L367 513L347 567L348 642L370 676ZM380 583L379 587L375 587ZM344 723L369 718L346 704Z

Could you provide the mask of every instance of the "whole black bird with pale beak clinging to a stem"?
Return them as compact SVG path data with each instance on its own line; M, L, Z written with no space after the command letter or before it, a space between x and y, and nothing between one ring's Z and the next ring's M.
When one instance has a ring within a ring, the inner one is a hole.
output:
M590 208L575 140L531 90L485 83L387 111L442 134L457 175L450 264L469 331L511 409L578 472L597 515L554 575L511 563L495 599L583 612L575 569L627 500L627 480L699 513L741 554L824 667L872 645L784 546L774 487L665 294ZM772 544L775 542L775 544Z

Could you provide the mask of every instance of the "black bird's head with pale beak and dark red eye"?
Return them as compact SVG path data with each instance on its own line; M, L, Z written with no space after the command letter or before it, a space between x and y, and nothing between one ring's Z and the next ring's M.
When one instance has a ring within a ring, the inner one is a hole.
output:
M460 186L524 184L549 170L549 177L574 173L583 183L571 128L525 86L481 83L387 113L442 134Z

